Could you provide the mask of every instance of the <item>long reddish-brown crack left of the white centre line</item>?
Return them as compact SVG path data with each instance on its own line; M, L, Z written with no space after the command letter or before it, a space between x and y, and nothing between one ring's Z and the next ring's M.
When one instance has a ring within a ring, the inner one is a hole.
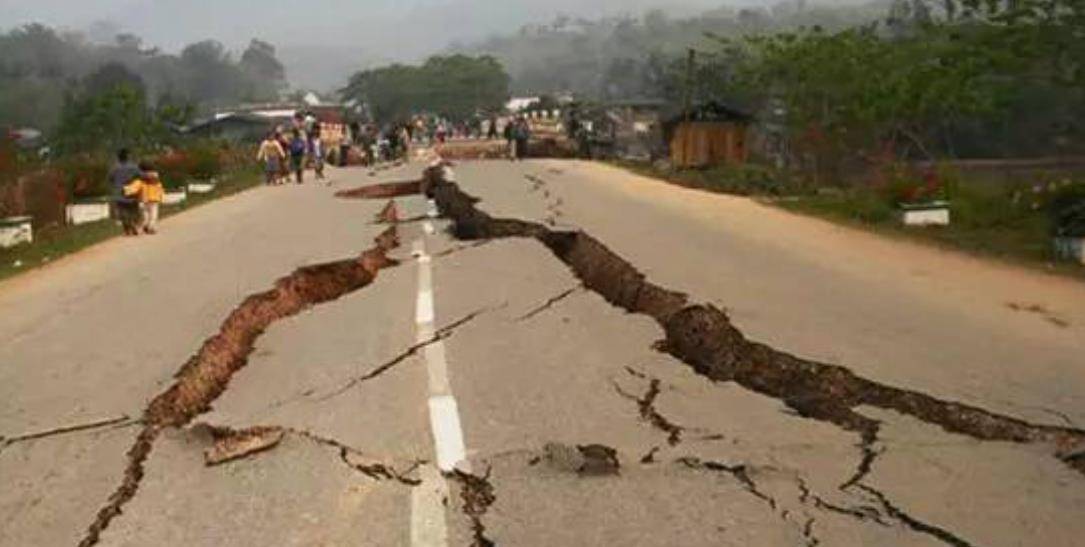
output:
M143 466L164 429L179 428L210 409L235 372L248 364L257 339L276 321L309 307L339 300L368 287L381 269L395 266L387 253L399 246L395 227L375 239L375 246L357 258L308 266L276 282L275 288L246 298L204 342L175 376L176 382L155 397L143 414L143 430L128 450L120 486L110 496L80 547L95 545L102 532L120 514L143 479Z

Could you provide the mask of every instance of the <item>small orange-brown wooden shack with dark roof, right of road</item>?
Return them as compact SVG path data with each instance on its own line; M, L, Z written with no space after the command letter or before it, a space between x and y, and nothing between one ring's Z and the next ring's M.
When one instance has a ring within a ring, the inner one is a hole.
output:
M681 113L666 124L671 163L675 167L710 167L745 163L752 116L718 102Z

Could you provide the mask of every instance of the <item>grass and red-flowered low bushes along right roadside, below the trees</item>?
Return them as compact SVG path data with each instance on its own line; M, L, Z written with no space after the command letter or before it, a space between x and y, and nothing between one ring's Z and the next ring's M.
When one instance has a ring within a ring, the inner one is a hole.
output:
M1083 233L1085 182L1064 173L1038 174L1016 181L965 176L940 169L939 187L907 180L897 185L818 186L801 176L760 166L671 169L643 162L615 165L639 175L715 193L743 195L795 213L878 233L957 249L981 256L1039 266L1085 277L1085 268L1059 262L1052 238ZM907 196L933 190L949 202L949 226L905 227L901 206Z

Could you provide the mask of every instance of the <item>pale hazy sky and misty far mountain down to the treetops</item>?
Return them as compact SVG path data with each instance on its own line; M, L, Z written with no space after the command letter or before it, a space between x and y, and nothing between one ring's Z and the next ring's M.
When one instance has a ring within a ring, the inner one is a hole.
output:
M414 61L454 40L477 40L559 14L593 18L663 8L677 16L775 1L0 0L0 28L38 22L86 31L97 23L99 38L128 31L166 51L204 39L237 50L260 38L279 48L292 81L327 89L365 65Z

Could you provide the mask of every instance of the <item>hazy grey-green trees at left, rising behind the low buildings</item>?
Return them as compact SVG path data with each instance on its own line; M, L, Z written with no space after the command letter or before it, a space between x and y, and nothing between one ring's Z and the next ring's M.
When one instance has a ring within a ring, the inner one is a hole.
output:
M146 126L145 116L124 114L169 124L215 105L271 101L285 86L275 47L255 39L235 58L214 40L171 54L131 34L113 43L37 24L0 34L0 125L62 138L102 123Z

